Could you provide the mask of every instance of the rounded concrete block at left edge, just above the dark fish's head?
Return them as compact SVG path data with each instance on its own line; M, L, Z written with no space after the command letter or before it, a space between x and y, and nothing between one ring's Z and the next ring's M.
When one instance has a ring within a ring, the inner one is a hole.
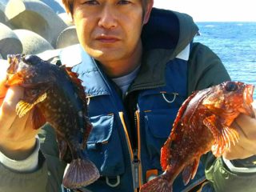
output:
M6 59L7 54L21 54L22 42L8 26L0 22L0 54Z

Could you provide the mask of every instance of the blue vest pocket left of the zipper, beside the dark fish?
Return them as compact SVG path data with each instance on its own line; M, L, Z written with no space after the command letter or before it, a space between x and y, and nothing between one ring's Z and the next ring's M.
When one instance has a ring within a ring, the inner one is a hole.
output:
M90 117L94 126L87 141L87 154L102 176L124 173L124 158L114 114Z

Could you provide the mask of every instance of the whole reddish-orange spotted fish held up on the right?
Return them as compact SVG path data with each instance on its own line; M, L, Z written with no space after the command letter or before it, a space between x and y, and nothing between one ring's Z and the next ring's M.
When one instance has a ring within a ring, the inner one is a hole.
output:
M238 132L230 126L241 113L255 118L253 92L252 85L223 82L191 94L179 109L162 146L161 166L165 172L144 184L141 192L171 192L174 179L181 172L186 185L194 178L202 154L212 150L220 157L238 142Z

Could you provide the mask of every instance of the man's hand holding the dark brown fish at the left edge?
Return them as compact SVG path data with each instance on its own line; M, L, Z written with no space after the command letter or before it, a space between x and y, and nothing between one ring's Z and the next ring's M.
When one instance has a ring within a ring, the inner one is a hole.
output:
M32 130L31 113L18 118L15 108L23 89L4 85L6 68L7 64L2 64L0 71L0 150L9 158L22 160L34 150L38 130Z

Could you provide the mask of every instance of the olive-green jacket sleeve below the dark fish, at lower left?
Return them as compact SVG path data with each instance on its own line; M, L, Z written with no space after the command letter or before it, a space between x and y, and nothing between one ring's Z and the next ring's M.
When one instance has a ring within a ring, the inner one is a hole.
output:
M0 192L59 192L66 163L58 158L54 130L46 125L38 134L38 169L30 173L10 170L0 164Z

